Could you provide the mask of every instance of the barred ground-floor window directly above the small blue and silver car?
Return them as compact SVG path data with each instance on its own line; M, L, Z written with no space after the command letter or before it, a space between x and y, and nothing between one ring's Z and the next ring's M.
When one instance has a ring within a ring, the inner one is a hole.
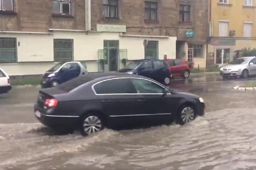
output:
M54 39L54 61L72 61L73 44L73 39Z

